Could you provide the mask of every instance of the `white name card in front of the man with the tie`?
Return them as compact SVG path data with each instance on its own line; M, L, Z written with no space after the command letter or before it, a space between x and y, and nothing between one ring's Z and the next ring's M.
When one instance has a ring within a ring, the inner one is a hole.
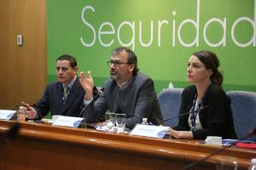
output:
M52 125L62 127L79 127L83 119L84 118L82 117L59 116Z

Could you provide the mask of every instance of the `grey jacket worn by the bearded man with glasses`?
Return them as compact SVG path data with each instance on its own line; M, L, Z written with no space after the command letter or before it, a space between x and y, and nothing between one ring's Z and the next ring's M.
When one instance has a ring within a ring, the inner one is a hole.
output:
M124 113L129 128L142 122L143 117L148 117L154 124L162 120L154 82L139 72L122 88L115 80L108 79L104 83L104 92L94 105L88 105L84 110L86 122L96 122L107 110Z

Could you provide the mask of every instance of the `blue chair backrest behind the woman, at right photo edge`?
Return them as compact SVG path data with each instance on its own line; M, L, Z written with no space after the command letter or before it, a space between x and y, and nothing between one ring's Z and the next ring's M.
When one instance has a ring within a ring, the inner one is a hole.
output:
M230 91L227 94L231 99L236 135L241 139L256 127L256 93Z

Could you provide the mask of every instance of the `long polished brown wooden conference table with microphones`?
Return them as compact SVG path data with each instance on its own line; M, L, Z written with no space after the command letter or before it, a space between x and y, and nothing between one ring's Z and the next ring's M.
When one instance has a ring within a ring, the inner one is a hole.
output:
M1 170L183 169L222 148L197 140L153 139L39 122L20 122L17 139L3 142L14 123L0 120ZM217 161L230 156L236 158L238 169L247 169L256 150L226 148L193 169L215 169Z

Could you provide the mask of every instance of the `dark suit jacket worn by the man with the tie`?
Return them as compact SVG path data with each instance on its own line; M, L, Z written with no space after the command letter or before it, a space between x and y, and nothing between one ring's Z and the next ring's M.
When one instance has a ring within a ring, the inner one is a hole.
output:
M33 108L38 111L38 118L42 118L50 111L51 115L79 116L84 101L84 89L79 78L70 89L66 104L62 104L63 88L61 82L52 82L45 88L44 94Z

